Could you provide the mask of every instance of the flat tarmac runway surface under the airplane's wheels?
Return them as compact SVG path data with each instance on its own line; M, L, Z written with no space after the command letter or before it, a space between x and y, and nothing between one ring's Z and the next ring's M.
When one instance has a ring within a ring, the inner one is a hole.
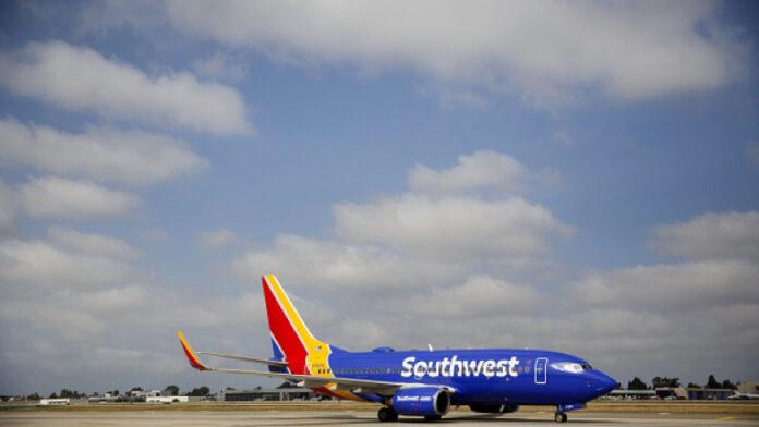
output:
M442 422L427 423L421 418L401 417L393 425L449 425L466 426L535 426L556 425L551 413L516 413L492 417L471 412L456 412ZM759 426L757 416L684 415L684 414L629 414L582 413L569 414L571 425L604 426ZM258 412L4 412L0 413L0 426L380 426L376 415L368 411L258 411Z

